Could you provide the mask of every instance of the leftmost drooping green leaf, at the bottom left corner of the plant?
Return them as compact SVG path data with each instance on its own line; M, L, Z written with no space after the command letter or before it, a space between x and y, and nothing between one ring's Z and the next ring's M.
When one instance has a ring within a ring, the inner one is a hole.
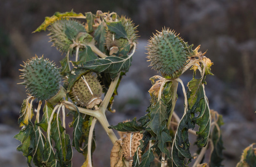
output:
M33 158L33 150L35 145L35 130L31 121L28 121L27 126L22 129L15 139L20 140L21 144L17 147L18 151L22 151L23 156L27 158L27 164L31 166L31 160Z

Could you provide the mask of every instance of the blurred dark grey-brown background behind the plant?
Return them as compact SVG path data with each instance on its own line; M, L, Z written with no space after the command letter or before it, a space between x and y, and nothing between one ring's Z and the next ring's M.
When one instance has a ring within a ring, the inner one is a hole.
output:
M1 0L0 3L0 164L27 166L20 142L13 139L20 128L17 120L26 98L25 87L17 85L20 64L35 55L54 60L60 66L61 54L49 43L47 32L35 31L46 16L55 12L117 12L130 17L140 36L132 66L123 77L115 97L115 114L107 114L110 124L146 114L151 87L149 78L156 72L148 67L147 40L170 27L214 65L214 76L207 76L206 95L211 109L224 117L221 128L224 141L224 166L235 166L243 149L256 142L256 1L254 0L123 0L123 1L49 1ZM184 83L191 73L181 77ZM186 84L185 84L186 85ZM121 91L122 90L122 91ZM182 91L178 91L177 113L182 115ZM112 144L100 125L96 126L95 166L109 166ZM83 164L83 156L74 153L73 166Z

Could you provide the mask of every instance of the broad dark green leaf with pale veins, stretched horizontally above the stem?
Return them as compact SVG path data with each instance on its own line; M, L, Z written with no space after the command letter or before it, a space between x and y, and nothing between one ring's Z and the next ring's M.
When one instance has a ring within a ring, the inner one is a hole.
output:
M113 80L115 77L117 77L117 74L120 71L127 72L131 66L131 62L132 55L121 57L108 56L85 62L81 66L77 66L76 71L93 70L97 73L109 73L110 78ZM77 65L76 62L73 62L73 64Z

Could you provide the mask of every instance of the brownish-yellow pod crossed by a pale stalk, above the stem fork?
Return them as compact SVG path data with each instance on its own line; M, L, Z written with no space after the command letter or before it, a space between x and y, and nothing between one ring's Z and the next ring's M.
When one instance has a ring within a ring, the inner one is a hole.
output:
M102 85L97 80L95 73L88 72L82 75L72 87L71 94L75 102L87 109L93 108L102 102Z

